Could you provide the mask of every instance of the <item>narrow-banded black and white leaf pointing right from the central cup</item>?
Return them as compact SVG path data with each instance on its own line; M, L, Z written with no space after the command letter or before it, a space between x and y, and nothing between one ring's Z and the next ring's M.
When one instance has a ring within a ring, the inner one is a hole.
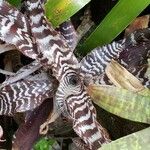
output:
M101 75L104 73L107 64L110 63L112 59L117 59L123 49L123 42L113 42L95 48L81 60L81 74L83 74L85 78L93 78L94 76Z

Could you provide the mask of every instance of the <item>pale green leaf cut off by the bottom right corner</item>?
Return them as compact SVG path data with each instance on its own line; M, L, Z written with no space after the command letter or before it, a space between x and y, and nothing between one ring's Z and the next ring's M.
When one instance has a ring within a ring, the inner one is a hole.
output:
M99 150L148 150L150 149L149 133L150 128L146 128L103 145Z

